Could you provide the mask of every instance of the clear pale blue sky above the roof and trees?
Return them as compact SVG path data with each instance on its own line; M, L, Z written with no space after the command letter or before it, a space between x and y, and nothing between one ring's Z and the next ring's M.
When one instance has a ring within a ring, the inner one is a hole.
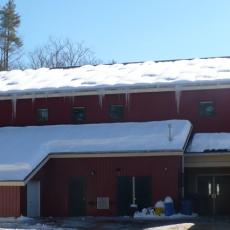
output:
M229 0L15 2L25 52L56 37L83 41L104 62L230 55Z

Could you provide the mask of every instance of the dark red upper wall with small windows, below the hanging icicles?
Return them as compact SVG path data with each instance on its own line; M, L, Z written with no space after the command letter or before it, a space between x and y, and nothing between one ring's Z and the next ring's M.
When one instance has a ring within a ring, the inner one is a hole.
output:
M199 102L213 101L216 114L213 117L200 117ZM123 121L150 121L165 119L188 119L195 132L230 131L230 89L182 91L177 110L175 92L132 93L129 100L125 94L99 96L77 96L60 98L38 98L17 100L16 117L12 116L11 100L0 101L0 125L37 125L37 108L49 109L49 121L45 124L71 124L71 108L86 108L84 123L111 122L110 104L125 106Z

